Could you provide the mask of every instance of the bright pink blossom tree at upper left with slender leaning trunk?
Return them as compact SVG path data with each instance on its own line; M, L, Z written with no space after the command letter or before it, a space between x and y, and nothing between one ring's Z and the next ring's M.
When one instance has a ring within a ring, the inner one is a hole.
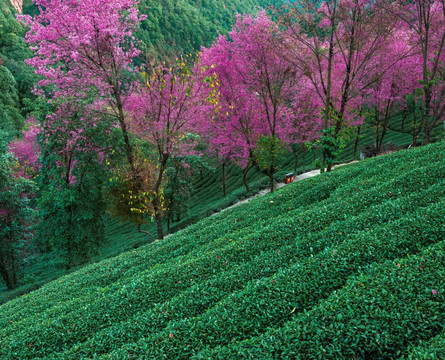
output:
M76 102L93 98L92 109L117 120L126 157L137 182L134 155L124 113L127 75L137 56L132 36L142 17L136 0L36 0L35 18L19 16L29 27L26 41L34 51L28 64L43 79L39 94ZM99 105L98 105L99 104Z

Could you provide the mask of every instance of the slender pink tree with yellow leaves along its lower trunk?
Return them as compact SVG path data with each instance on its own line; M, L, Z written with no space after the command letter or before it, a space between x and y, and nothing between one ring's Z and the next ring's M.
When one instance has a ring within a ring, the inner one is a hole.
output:
M149 202L153 206L158 238L162 225L165 170L171 157L193 154L197 139L193 135L202 116L202 89L199 71L192 71L182 59L170 66L147 65L143 81L133 88L126 104L130 130L151 146L148 160L156 167Z

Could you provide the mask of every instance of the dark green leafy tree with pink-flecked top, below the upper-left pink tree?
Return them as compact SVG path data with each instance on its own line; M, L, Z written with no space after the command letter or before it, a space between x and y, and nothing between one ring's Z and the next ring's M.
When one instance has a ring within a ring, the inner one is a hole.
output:
M82 104L78 106L82 108ZM49 118L43 111L41 117L37 243L43 252L62 256L69 269L89 261L105 240L104 191L110 177L106 131L110 119L91 120L82 112ZM52 127L45 127L46 122ZM72 133L77 131L82 136L73 141Z

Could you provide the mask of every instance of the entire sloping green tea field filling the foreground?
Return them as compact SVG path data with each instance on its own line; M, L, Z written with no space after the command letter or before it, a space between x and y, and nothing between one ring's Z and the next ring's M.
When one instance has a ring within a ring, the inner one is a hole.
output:
M440 359L445 142L205 218L0 306L0 359Z

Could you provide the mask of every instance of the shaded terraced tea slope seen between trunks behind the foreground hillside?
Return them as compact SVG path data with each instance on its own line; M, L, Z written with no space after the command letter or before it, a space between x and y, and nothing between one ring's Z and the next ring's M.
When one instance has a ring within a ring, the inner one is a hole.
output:
M397 114L391 118L390 126L385 138L385 143L392 143L398 147L406 148L413 141L413 134L416 133L414 124L414 117L409 114L404 118L403 113ZM435 129L435 138L439 139L443 127L440 125ZM356 157L359 157L360 150L375 142L375 134L371 127L365 126L359 137L357 144ZM313 170L314 155L318 157L319 154L314 154L312 151L306 151L299 154L298 166L296 174L305 171ZM338 163L349 162L354 158L354 137L346 144L346 147L341 152L337 159ZM280 169L275 179L283 181L284 175L294 170L295 159L292 154L287 154L280 162L278 168ZM249 183L251 192L247 192L242 182L242 171L236 165L227 166L227 196L223 196L221 186L221 168L215 170L204 170L202 176L196 174L192 179L192 192L188 201L188 209L181 214L179 221L172 221L170 232L175 232L183 229L186 226L197 222L198 220L210 216L211 214L220 211L237 201L250 197L261 189L269 186L268 178L260 173L256 168L251 169L247 174L247 181ZM175 219L176 220L176 219ZM166 221L165 221L166 225ZM154 222L149 222L143 225L143 229L156 233L156 225ZM151 236L148 236L137 231L134 224L122 222L118 218L108 218L106 221L106 243L102 244L97 253L92 254L90 262L97 262L106 258L116 256L124 251L137 248L153 241ZM167 226L164 227L165 232L168 232ZM80 265L82 266L82 265ZM78 268L80 267L78 266ZM75 270L70 269L69 272ZM0 304L14 299L24 293L28 293L49 281L55 280L60 276L66 275L67 270L63 265L63 259L57 254L43 254L42 258L37 261L31 260L24 264L23 278L21 285L11 291L7 291L6 286L0 283Z

